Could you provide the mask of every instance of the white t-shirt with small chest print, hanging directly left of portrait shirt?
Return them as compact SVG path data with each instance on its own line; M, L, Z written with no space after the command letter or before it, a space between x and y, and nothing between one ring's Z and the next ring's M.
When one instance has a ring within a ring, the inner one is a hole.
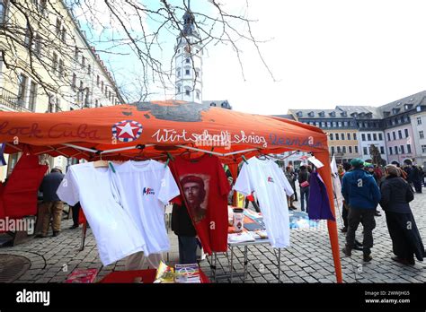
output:
M155 160L129 160L115 165L119 183L125 190L121 196L139 232L146 242L145 256L170 249L164 223L164 205L180 195L179 187L167 166Z

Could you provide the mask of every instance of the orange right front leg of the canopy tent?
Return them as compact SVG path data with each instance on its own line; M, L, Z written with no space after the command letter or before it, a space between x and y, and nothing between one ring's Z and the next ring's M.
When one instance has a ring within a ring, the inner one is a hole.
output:
M317 152L315 157L324 163L324 167L318 169L321 174L321 178L324 179L324 184L327 187L328 198L330 199L330 206L334 217L336 216L334 208L334 195L333 195L333 184L332 184L332 169L330 167L330 155L327 152ZM337 223L335 221L327 221L328 235L330 237L330 243L332 245L334 270L336 273L337 282L343 282L342 280L342 264L340 256L339 238L337 236Z

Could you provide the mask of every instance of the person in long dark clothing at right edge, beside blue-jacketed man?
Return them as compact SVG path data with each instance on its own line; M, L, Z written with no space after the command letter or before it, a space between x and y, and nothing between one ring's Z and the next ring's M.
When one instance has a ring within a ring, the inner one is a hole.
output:
M413 265L414 256L417 260L423 261L426 255L410 209L409 203L414 199L413 190L400 176L400 170L394 165L386 166L386 180L380 187L382 193L380 205L386 213L387 230L392 239L395 254L392 260L400 264Z

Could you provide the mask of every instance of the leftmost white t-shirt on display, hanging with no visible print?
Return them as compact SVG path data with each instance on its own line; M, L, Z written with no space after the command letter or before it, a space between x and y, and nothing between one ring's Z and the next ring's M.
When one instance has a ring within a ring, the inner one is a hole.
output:
M80 202L103 265L145 247L136 223L120 204L119 190L111 183L111 174L111 169L94 168L92 162L77 164L68 168L57 191L67 204Z

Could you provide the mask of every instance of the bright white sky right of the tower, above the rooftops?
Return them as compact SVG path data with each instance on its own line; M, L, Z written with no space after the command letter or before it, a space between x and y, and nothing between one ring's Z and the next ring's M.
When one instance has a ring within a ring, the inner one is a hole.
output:
M239 0L221 1L242 6ZM261 48L277 82L253 47L243 47L246 82L229 49L209 48L204 100L227 99L236 110L285 114L288 108L379 106L426 89L426 1L249 4L249 17L258 20L255 35L271 39Z

